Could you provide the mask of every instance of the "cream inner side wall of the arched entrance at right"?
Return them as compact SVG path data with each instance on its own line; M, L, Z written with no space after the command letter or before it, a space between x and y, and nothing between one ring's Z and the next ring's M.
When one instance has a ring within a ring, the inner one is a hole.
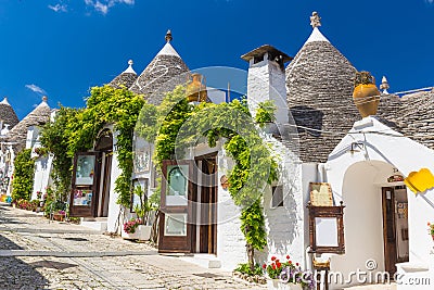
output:
M388 167L388 164L380 164ZM368 260L376 262L376 270L384 270L382 191L381 186L373 182L376 174L372 164L366 162L350 166L345 174L345 254L333 255L331 260L331 269L342 273L345 278L349 272L367 270Z

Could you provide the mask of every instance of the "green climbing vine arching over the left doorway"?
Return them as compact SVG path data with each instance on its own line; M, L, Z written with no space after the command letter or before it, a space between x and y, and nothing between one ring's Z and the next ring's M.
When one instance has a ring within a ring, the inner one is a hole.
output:
M142 96L136 94L126 88L116 89L111 86L93 87L90 97L86 100L85 109L63 109L53 124L43 131L43 146L47 147L58 165L64 169L68 167L67 178L62 179L62 187L71 184L71 164L76 152L88 151L93 148L98 134L106 124L114 124L116 135L117 161L122 169L116 179L115 191L118 192L117 202L126 207L130 205L130 182L132 174L132 136L137 117L144 104ZM62 127L62 128L61 128ZM59 139L56 135L62 134ZM61 144L55 144L62 140Z

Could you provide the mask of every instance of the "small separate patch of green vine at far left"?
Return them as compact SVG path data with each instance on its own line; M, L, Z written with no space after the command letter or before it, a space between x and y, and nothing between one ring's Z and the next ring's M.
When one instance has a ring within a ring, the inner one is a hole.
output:
M29 201L34 189L35 160L31 159L31 149L18 152L14 162L12 180L12 199Z

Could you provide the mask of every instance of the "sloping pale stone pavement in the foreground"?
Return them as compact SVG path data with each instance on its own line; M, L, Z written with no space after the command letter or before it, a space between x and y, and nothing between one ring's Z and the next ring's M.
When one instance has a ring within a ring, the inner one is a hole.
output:
M266 289L148 243L0 204L0 289Z

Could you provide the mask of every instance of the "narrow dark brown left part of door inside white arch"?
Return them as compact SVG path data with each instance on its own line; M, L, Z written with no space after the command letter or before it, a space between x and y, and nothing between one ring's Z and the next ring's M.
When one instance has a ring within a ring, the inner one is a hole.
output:
M384 266L391 277L396 273L396 229L395 229L395 192L391 187L383 187L383 237Z

